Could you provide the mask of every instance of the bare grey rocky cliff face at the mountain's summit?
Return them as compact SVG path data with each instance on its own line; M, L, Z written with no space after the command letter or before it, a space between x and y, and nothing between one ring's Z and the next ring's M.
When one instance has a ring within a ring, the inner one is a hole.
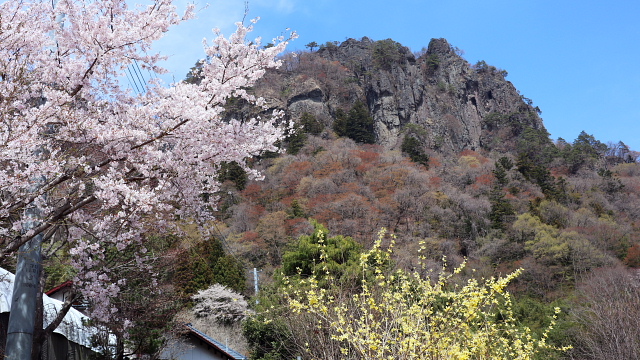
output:
M543 129L537 109L505 75L484 62L471 66L444 39L432 39L418 58L390 39L349 39L288 59L258 93L294 119L308 112L325 125L362 100L384 146L412 132L434 150L475 150L513 143L527 127Z

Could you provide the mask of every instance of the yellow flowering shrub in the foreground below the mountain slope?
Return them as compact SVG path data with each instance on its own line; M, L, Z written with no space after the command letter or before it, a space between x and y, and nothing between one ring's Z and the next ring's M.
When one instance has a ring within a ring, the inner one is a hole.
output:
M289 308L313 315L316 328L339 342L344 359L532 359L549 348L553 321L536 339L514 319L505 288L521 270L462 284L453 277L464 264L439 275L425 268L393 270L393 246L381 247L384 235L382 230L374 247L361 255L357 291L319 286L319 274L292 278L287 287Z

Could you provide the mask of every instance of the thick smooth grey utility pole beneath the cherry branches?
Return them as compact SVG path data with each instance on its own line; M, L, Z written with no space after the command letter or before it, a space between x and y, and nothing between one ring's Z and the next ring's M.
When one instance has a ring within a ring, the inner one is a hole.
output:
M37 210L27 210L25 230L37 226ZM25 231L25 232L26 232ZM16 277L11 297L5 359L30 360L36 318L36 298L40 291L42 233L26 242L18 251Z

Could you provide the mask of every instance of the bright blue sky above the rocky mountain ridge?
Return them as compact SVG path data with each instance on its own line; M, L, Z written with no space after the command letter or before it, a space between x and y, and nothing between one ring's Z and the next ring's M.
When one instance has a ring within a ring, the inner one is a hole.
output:
M243 12L243 0L210 1L158 43L171 55L165 67L183 78L211 28L229 34ZM553 139L571 142L584 130L640 151L640 1L250 0L248 18L257 16L256 36L298 32L290 50L368 36L417 51L446 38L469 62L507 70L507 80L540 107Z

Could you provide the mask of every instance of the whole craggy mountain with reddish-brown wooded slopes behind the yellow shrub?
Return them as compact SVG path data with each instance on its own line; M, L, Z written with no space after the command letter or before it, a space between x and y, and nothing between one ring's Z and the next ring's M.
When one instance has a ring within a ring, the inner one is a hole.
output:
M304 251L310 219L362 249L386 228L407 270L443 259L466 259L478 278L522 268L508 288L517 319L542 329L542 314L562 309L549 337L573 349L554 356L637 358L637 152L585 132L550 139L506 71L470 65L442 39L419 54L350 39L285 60L255 91L296 132L254 164L264 181L228 173L219 213L230 251L262 281ZM254 341L256 354L278 353Z

